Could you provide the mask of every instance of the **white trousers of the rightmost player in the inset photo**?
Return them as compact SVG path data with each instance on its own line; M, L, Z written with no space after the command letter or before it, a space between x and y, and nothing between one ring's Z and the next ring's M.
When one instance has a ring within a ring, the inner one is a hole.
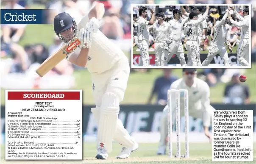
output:
M242 66L249 66L249 39L242 39L237 49L237 60Z

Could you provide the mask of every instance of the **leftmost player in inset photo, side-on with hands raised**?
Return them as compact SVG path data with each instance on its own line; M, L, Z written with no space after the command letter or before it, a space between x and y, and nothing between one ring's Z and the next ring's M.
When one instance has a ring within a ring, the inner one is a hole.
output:
M149 8L152 14L150 21L147 21L147 8L145 6L139 8L138 26L138 48L140 50L139 66L149 66L149 30L148 25L153 25L155 22L155 14L152 8Z

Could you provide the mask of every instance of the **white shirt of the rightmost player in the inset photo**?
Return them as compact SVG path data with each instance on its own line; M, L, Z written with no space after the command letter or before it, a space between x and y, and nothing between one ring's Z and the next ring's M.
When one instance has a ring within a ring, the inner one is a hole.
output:
M242 17L240 14L237 13L236 10L234 10L234 13L237 17L237 19L239 19L240 22L236 22L233 19L230 20L230 22L241 28L241 39L249 39L250 38L250 15L246 15L245 17Z

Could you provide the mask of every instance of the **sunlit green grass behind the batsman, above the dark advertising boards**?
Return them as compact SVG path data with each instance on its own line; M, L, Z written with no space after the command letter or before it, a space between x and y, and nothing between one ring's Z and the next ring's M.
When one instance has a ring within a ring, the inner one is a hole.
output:
M256 102L256 86L255 86L255 71L256 65L252 64L251 69L246 69L245 75L247 76L246 85L250 89L250 100L251 103ZM202 69L198 69L198 72ZM122 104L145 104L150 95L151 88L154 80L162 74L161 69L152 69L151 72L136 72L131 73L127 90L125 92L124 100ZM173 69L173 74L181 78L182 69ZM74 76L76 78L77 85L75 89L83 90L83 103L93 104L94 100L92 97L92 85L89 72L87 70L75 71ZM211 103L222 103L223 92L225 83L220 83L217 86L211 87ZM142 87L143 86L143 87ZM5 92L1 89L1 104L4 104Z

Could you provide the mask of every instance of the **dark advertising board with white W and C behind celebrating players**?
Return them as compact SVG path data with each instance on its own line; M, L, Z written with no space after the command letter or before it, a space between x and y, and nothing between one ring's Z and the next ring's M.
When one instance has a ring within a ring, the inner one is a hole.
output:
M206 59L207 55L208 54L205 54L205 53L200 54L201 63L203 63L203 61ZM228 58L229 58L229 62L231 64L231 66L238 63L237 54L230 53L230 54L228 54ZM188 61L187 54L185 54L185 60L187 63L187 61ZM175 55L173 58L171 58L171 60L168 62L168 64L180 64L180 61L179 61L178 57ZM223 59L218 54L218 55L214 56L214 58L212 59L210 64L224 64L224 62L223 62Z

